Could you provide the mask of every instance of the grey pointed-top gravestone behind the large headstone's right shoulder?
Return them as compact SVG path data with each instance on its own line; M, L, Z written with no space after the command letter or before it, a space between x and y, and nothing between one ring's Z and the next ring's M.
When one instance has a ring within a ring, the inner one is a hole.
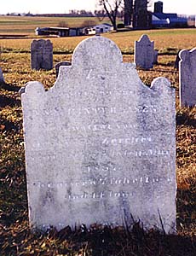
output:
M151 42L147 35L142 35L139 41L135 41L136 66L144 69L153 68L154 55L154 42Z

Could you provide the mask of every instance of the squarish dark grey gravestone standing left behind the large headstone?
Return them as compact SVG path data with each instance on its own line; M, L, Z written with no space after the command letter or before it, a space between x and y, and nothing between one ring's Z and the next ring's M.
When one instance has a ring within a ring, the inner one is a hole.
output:
M31 44L32 69L53 68L53 44L49 40L33 40Z

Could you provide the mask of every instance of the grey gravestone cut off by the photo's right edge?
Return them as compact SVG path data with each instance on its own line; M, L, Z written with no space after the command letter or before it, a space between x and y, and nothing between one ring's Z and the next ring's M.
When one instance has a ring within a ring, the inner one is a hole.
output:
M179 53L179 85L181 107L196 105L196 48Z

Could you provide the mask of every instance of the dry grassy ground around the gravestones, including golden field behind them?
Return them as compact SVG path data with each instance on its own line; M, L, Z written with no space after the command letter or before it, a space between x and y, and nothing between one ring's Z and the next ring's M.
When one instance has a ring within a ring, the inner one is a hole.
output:
M43 83L49 90L55 83L55 68L34 71L30 65L32 39L0 40L0 67L6 84L0 86L0 255L141 255L192 256L196 252L196 108L179 107L178 71L174 68L178 49L195 47L196 30L123 32L107 35L133 62L134 41L147 33L159 50L159 63L148 71L138 68L149 86L163 76L176 88L176 235L164 230L145 231L139 223L133 229L111 229L93 225L89 230L49 230L32 233L28 227L25 151L22 111L18 90L29 81ZM54 44L54 67L71 61L72 50L84 37L50 38Z

